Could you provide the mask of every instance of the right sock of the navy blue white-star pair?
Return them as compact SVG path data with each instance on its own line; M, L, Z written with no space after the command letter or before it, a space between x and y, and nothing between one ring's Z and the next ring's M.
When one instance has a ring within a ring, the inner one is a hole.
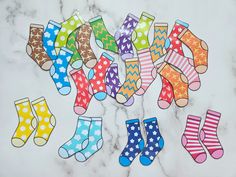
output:
M145 119L143 123L147 133L147 143L140 155L139 160L141 164L147 166L152 163L156 155L162 150L164 146L164 139L160 134L157 118L153 117Z

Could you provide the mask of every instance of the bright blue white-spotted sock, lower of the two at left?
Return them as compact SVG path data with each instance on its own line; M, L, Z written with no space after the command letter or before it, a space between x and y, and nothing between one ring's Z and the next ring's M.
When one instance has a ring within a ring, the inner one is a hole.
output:
M67 67L73 52L65 47L59 51L58 58L54 61L50 75L61 95L68 95L71 90L70 81L67 76Z

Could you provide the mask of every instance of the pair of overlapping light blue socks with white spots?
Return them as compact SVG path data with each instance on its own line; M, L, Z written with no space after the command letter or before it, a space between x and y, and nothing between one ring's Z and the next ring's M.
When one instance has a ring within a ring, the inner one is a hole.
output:
M64 159L74 155L77 161L84 162L102 145L102 118L79 117L74 135L59 148L58 154Z

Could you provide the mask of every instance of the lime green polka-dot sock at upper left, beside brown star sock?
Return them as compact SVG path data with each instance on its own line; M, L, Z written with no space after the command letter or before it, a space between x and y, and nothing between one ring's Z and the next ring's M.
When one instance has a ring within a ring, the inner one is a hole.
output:
M58 32L55 47L57 53L59 52L61 47L66 47L66 42L69 35L74 31L76 28L80 27L84 24L83 18L80 16L79 12L76 11L73 16L69 19L61 23L61 30Z

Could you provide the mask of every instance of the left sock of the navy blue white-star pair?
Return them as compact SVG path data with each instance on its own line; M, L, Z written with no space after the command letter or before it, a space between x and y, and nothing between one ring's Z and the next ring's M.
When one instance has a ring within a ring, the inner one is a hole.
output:
M139 120L127 120L126 127L128 132L128 142L119 157L119 162L122 166L129 166L144 147L144 140L140 131Z

